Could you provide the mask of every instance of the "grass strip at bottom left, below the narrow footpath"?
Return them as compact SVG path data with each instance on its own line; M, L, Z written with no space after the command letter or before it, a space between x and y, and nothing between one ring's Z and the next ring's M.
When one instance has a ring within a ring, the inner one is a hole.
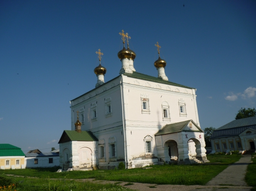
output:
M92 182L77 182L67 179L50 180L12 177L14 182L18 182L17 191L132 191L114 184L98 184Z

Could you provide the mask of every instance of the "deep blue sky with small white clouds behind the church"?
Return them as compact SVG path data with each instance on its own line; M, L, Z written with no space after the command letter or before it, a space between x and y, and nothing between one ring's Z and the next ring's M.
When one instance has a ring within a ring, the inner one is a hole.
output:
M0 143L58 147L71 129L69 101L95 87L98 49L105 81L119 75L121 30L140 73L157 77L159 42L169 81L197 89L203 129L255 107L255 0L2 0Z

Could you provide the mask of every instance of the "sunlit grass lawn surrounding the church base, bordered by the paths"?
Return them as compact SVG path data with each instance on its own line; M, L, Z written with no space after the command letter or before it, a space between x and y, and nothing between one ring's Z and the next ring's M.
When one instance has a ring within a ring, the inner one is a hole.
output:
M54 168L38 169L16 169L0 170L0 174L13 174L31 177L40 177L44 179L88 179L96 178L97 180L108 181L125 181L138 183L153 184L172 184L172 185L205 185L213 177L227 168L229 163L239 160L241 156L223 155L225 160L223 164L207 165L153 165L152 169L126 169L126 170L98 170L98 171L69 171L56 173ZM210 156L211 159L219 162L216 158L220 155Z

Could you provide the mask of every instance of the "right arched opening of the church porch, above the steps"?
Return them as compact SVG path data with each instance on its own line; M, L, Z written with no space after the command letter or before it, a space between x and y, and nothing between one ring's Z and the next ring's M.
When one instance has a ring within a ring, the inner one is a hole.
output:
M194 160L196 162L202 161L202 150L201 143L196 138L190 138L187 141L187 150L190 161Z

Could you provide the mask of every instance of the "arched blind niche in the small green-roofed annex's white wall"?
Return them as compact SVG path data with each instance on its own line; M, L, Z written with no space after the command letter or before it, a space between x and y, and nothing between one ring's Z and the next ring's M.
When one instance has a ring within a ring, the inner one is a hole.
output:
M80 170L92 170L92 150L88 147L79 149L79 168Z

